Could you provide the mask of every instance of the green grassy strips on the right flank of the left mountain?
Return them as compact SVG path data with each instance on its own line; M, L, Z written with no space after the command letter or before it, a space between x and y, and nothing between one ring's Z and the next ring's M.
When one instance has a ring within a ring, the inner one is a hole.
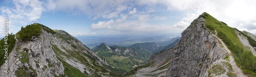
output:
M116 76L118 75L119 71L123 71L120 69L116 69L116 68L112 68L109 66L99 66L95 61L95 58L92 58L91 56L89 56L88 54L84 54L81 52L76 52L76 51L72 51L69 49L66 49L65 47L62 47L63 49L66 50L66 53L63 53L56 45L51 44L52 48L54 50L54 53L57 55L58 60L61 61L61 63L63 64L63 66L65 67L65 74L68 76L87 76L85 75L86 73L82 73L80 72L77 68L73 67L72 65L68 64L67 62L63 61L62 59L64 59L62 56L65 56L68 59L77 59L81 64L84 64L90 68L93 68L94 70L96 70L92 76L99 76L102 73L99 72L109 72L110 75L112 76ZM107 69L110 69L112 72L108 71ZM96 73L97 72L97 73Z

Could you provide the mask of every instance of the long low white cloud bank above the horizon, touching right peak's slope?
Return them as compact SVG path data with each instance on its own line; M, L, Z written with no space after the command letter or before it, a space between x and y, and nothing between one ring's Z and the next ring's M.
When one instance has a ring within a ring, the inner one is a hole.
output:
M136 15L136 19L126 19L127 15L122 14L122 18L109 21L99 21L98 23L92 23L91 28L97 30L112 30L121 33L130 34L161 34L161 33L176 33L177 36L190 24L188 21L192 21L193 16L183 18L183 21L178 22L177 25L170 24L148 24L148 20L159 19L163 20L166 17L155 16L151 17L149 14Z

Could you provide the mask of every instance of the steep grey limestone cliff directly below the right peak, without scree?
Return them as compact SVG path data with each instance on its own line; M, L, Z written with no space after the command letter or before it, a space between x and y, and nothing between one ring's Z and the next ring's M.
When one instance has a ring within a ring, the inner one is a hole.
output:
M204 26L204 19L199 17L183 31L174 50L169 51L172 52L172 63L167 76L206 76L209 65L225 57L218 39Z

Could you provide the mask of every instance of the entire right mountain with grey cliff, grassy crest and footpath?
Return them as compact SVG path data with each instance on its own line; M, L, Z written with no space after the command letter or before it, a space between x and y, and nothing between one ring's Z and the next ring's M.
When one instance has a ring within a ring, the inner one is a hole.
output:
M255 40L248 40L240 31L203 13L182 32L173 48L152 55L148 64L125 75L255 76L255 56L251 54Z

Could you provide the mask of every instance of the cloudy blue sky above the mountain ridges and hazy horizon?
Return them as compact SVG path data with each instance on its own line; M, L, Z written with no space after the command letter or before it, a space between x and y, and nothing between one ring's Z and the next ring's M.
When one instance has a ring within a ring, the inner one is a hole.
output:
M172 35L207 12L232 28L256 34L254 0L0 0L0 36L31 23L73 36Z

